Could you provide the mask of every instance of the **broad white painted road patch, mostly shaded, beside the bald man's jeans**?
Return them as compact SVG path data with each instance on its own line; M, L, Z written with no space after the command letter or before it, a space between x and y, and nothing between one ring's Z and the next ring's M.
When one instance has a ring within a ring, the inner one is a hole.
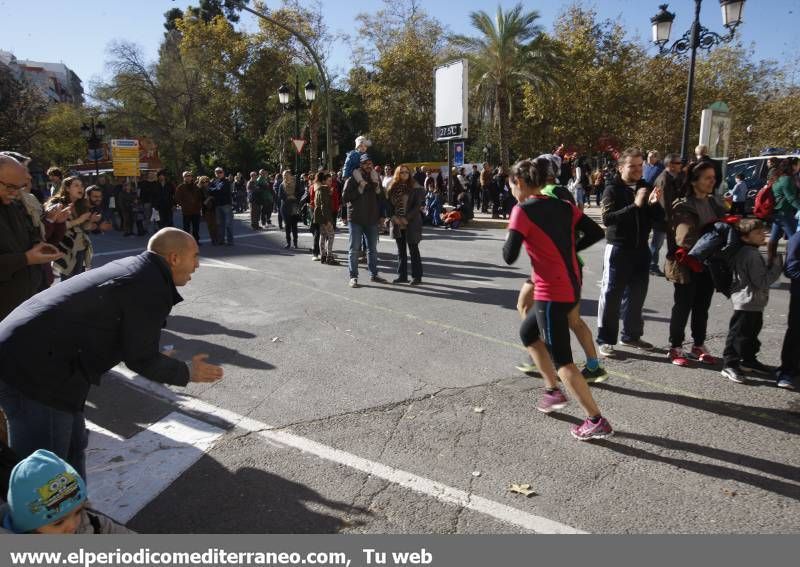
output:
M181 413L171 413L145 431L124 439L86 422L92 507L126 524L183 472L206 454L224 430Z

